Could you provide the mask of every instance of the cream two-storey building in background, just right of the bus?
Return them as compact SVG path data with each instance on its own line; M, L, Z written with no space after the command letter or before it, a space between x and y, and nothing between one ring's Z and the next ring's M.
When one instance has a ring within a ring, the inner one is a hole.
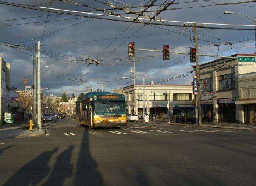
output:
M191 79L192 81L192 79ZM136 113L143 112L143 85L136 84ZM126 97L128 113L134 111L134 85L123 88ZM169 101L168 101L169 100ZM176 115L175 107L193 107L192 85L145 85L145 112L160 114L167 113L167 104L170 105L170 115Z

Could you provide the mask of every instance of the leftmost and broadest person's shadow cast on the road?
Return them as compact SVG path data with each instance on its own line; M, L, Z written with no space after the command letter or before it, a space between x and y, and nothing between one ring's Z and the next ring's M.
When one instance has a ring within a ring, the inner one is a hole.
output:
M50 171L47 166L51 156L58 151L58 148L54 148L51 151L45 151L41 153L38 157L31 160L29 163L25 164L21 169L19 169L10 179L8 179L3 186L9 185L36 185L42 179L44 179ZM38 172L38 167L40 167L40 172ZM34 174L31 174L34 172Z

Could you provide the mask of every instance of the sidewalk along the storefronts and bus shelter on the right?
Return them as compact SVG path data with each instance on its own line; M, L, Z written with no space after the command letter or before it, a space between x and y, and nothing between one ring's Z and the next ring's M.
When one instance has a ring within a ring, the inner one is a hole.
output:
M210 128L219 128L219 129L240 129L240 130L255 130L256 131L256 123L215 123L215 124L208 124L208 122L202 122L201 126L198 126L198 124L183 124L183 123L176 123L174 121L170 121L168 123L167 119L154 119L154 123L161 123L161 124L170 124L170 125L177 125L177 126L193 126L193 127L210 127ZM149 123L153 123L152 121L149 121Z

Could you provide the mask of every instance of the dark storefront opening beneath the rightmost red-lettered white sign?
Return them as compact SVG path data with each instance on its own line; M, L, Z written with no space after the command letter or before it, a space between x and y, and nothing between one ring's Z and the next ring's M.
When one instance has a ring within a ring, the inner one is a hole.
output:
M235 98L217 99L219 122L236 122Z

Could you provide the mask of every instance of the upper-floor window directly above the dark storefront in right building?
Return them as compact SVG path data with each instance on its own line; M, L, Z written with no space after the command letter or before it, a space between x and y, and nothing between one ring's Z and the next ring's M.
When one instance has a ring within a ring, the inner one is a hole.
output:
M218 76L218 90L235 89L235 73Z

